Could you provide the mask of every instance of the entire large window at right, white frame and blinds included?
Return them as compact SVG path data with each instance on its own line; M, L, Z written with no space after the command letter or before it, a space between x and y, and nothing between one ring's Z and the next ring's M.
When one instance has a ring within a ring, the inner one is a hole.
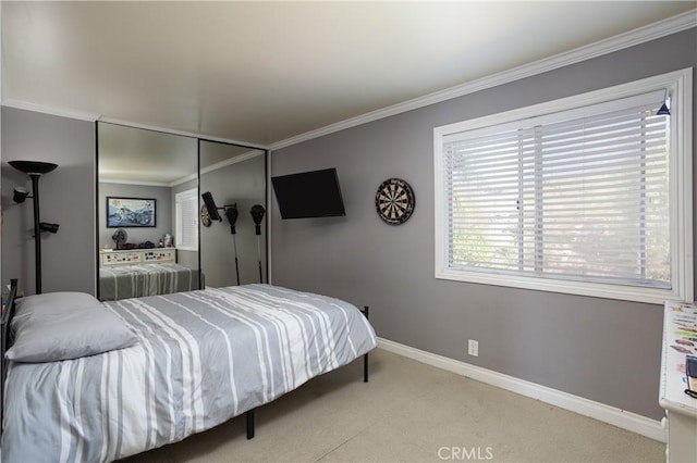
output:
M686 70L436 128L436 277L693 300L690 89Z

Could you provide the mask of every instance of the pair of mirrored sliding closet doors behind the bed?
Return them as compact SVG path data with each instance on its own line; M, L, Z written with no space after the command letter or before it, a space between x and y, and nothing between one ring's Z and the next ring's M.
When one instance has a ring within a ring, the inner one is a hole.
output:
M266 150L105 122L97 130L101 300L267 283Z

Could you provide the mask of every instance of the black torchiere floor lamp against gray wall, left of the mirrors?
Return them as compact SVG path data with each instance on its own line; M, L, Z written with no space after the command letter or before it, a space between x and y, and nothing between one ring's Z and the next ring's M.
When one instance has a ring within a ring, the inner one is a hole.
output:
M17 204L27 198L34 199L34 247L35 247L35 272L36 272L36 293L41 293L41 232L57 233L58 224L40 222L39 215L39 178L58 167L58 164L40 161L10 161L9 164L20 172L24 172L32 178L32 196L21 187L14 189L12 199Z

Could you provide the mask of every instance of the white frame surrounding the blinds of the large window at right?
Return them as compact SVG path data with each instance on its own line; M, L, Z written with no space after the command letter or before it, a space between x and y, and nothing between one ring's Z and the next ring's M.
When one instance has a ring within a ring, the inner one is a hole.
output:
M448 266L448 199L443 165L443 140L450 135L530 117L570 111L649 91L668 89L671 96L670 201L672 288L651 288L548 277L512 275L510 272L464 271ZM435 276L437 279L468 281L591 296L608 299L663 303L693 301L693 70L685 68L600 90L515 109L433 128L435 166Z

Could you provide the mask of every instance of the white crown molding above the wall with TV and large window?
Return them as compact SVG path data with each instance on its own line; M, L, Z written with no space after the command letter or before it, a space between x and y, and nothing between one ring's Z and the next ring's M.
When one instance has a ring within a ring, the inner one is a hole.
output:
M603 54L609 54L619 50L623 50L625 48L656 40L661 37L680 33L682 30L687 30L696 26L697 9L690 10L673 17L669 17L668 20L663 20L658 23L650 24L648 26L640 27L638 29L629 30L614 37L597 41L588 46L576 48L567 52L559 53L550 58L535 61L533 63L513 67L501 73L470 80L468 83L450 87L444 90L428 93L424 97L407 100L402 103L371 111L356 117L351 117L345 121L318 128L316 130L310 130L305 134L286 138L284 140L271 143L269 148L271 150L278 150L281 148L290 147L292 145L311 140L325 135L356 127L362 124L378 121L384 117L390 117L430 104L440 103L442 101L463 97L465 95L474 93L476 91L485 90L488 88L498 87L503 84L509 84L526 77L542 74L560 67L568 66L571 64L579 63L582 61L587 61L592 58L601 57Z

